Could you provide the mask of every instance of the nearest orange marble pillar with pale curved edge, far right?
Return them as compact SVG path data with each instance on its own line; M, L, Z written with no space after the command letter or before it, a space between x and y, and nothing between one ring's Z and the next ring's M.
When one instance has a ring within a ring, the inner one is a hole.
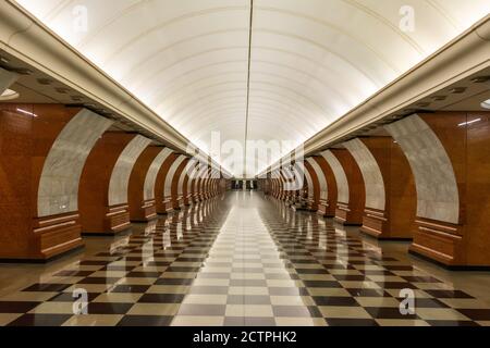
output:
M411 252L450 268L490 266L489 114L414 114L385 126L417 189Z

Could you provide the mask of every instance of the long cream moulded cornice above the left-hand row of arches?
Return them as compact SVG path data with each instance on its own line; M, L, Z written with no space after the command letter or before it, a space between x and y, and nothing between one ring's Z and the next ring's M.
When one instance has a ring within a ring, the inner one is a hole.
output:
M10 0L0 2L0 45L5 52L155 134L167 146L186 152L188 139Z

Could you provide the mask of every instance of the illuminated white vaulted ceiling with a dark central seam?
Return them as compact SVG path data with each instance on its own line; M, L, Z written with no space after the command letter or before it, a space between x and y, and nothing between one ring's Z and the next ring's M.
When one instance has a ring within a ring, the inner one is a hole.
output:
M255 0L250 38L250 0L17 2L211 156L213 132L286 140L270 163L490 12L488 0ZM270 164L248 157L248 175Z

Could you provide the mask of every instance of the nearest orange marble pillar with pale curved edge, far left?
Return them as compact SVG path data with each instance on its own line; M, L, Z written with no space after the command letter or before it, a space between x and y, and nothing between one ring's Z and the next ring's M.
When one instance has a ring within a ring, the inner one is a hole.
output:
M0 259L46 261L83 246L79 173L112 124L60 104L0 104Z

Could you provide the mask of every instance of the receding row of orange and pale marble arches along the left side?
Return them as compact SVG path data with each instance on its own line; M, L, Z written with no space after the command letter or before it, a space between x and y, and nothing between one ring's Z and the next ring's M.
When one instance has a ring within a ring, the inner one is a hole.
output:
M225 189L220 169L84 108L0 104L0 259L47 260Z

